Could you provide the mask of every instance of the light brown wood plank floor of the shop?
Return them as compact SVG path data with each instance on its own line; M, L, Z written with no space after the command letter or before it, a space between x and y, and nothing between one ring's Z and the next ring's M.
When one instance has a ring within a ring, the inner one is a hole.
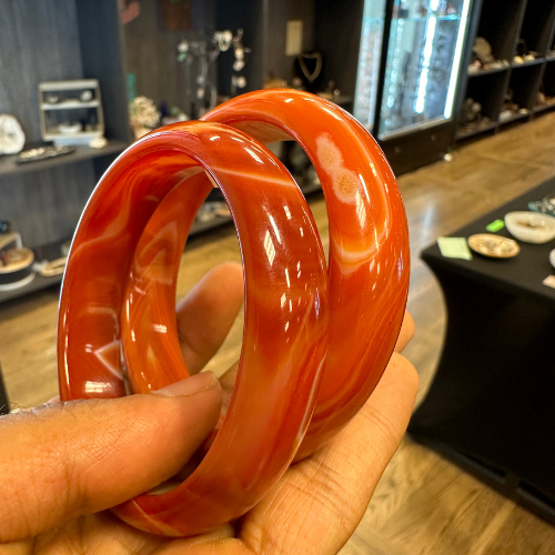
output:
M411 230L408 307L416 335L406 355L421 374L421 400L433 379L445 327L440 289L418 260L438 235L555 175L555 113L473 143L400 179ZM323 198L311 208L327 246ZM179 293L213 265L240 261L233 228L193 240L183 255ZM57 394L56 289L0 305L0 362L11 402L42 403ZM242 320L212 361L218 372L239 356ZM433 452L404 440L359 529L342 555L547 555L555 528L494 493Z

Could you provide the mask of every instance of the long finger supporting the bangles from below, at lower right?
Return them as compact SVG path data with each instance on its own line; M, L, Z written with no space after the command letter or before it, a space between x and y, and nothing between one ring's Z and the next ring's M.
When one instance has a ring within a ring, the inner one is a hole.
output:
M292 466L243 521L246 547L264 555L337 553L403 437L417 384L414 367L394 353L359 414L327 446Z

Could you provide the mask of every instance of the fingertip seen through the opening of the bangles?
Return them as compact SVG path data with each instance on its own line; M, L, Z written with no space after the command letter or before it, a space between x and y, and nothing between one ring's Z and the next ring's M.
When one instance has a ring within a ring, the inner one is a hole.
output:
M212 269L178 304L181 351L191 374L200 372L220 349L243 296L241 264L225 262Z

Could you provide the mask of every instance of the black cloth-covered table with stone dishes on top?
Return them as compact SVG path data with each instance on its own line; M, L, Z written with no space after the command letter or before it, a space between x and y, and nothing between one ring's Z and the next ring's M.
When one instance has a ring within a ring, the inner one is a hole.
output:
M555 191L555 180L453 233L468 238ZM497 234L511 236L506 229ZM555 274L543 245L514 259L422 252L447 306L443 352L410 434L555 524Z

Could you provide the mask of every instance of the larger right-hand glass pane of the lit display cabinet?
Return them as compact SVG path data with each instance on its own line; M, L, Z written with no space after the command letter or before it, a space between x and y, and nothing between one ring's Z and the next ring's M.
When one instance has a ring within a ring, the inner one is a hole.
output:
M374 2L366 0L365 4L370 3ZM471 0L394 1L380 140L452 119L470 3ZM360 71L364 63L361 56Z

